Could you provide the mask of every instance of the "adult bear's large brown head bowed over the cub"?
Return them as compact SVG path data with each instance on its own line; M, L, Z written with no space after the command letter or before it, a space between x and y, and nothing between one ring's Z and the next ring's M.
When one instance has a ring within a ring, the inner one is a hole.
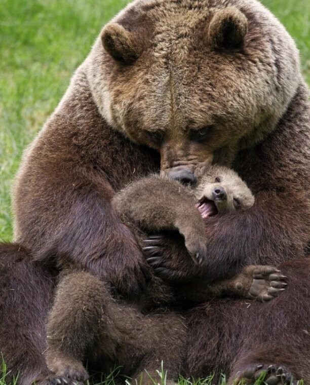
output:
M255 0L137 0L87 59L100 113L195 181L273 131L300 82L285 28Z

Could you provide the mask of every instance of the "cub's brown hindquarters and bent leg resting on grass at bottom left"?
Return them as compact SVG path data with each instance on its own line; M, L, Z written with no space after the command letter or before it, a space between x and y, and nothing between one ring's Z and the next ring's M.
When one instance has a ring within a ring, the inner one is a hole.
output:
M126 375L143 373L142 383L148 384L144 369L155 375L162 360L168 378L177 377L186 327L178 314L143 315L136 306L114 300L98 278L73 272L58 285L47 335L46 360L57 383L85 381L83 359L90 353L122 366Z

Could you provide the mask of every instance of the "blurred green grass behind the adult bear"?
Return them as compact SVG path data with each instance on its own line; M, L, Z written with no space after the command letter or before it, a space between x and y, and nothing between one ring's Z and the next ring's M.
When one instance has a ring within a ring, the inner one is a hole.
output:
M310 84L309 0L263 0L294 37ZM0 240L12 239L10 190L22 150L42 127L101 26L126 0L1 0Z

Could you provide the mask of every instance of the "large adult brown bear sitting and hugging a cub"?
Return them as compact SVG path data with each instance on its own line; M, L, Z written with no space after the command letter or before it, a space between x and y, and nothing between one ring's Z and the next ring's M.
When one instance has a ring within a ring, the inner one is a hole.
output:
M195 182L212 162L231 164L256 204L209 219L203 270L179 239L154 245L154 268L172 281L212 282L250 263L281 264L292 284L270 304L193 309L185 374L221 370L252 381L261 365L275 365L286 373L279 381L309 380L307 98L292 39L255 0L138 0L121 12L17 176L15 240L31 253L1 248L0 350L21 383L46 376L55 266L74 261L131 298L143 290L148 267L111 209L114 192L159 168Z

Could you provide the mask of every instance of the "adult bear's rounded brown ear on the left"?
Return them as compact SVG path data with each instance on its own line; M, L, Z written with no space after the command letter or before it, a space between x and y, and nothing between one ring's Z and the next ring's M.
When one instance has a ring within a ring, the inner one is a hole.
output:
M117 23L110 23L102 29L101 42L105 51L123 64L133 63L142 51L142 44L139 48L134 33Z

